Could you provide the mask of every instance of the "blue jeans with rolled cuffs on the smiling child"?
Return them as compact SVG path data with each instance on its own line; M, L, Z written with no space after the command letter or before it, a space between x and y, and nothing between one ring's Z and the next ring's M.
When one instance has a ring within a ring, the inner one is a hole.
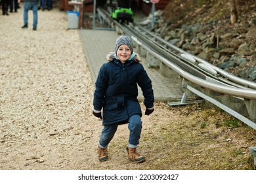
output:
M129 134L129 148L137 148L140 140L140 134L142 129L142 121L139 115L133 115L129 118L128 129ZM118 124L114 125L104 125L101 135L100 135L100 148L106 148L112 138L114 137Z

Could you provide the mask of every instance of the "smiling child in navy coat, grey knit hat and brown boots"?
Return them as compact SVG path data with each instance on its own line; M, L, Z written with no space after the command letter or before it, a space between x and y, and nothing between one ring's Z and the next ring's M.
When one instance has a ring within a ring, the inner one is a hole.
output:
M126 35L117 38L115 52L110 52L107 59L98 72L93 99L93 115L102 119L104 126L98 144L98 160L108 160L108 144L118 125L128 123L128 158L135 163L142 163L146 158L137 153L142 129L137 85L144 96L144 114L150 115L154 112L152 81L139 63L139 55L133 52L132 40Z

